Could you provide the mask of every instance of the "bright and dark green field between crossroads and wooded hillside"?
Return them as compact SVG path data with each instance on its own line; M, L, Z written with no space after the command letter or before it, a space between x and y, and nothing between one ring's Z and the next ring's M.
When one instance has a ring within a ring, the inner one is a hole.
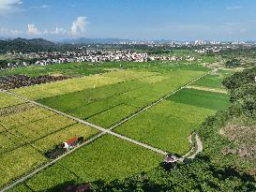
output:
M177 154L189 149L188 135L205 117L228 107L229 96L183 89L115 131Z

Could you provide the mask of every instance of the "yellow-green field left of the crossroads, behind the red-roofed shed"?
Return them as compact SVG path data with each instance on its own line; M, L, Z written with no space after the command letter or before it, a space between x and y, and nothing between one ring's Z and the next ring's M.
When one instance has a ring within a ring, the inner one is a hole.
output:
M12 99L12 96L7 97ZM10 103L10 102L9 102ZM84 140L98 130L23 103L0 109L0 187L44 164L44 153L71 137Z

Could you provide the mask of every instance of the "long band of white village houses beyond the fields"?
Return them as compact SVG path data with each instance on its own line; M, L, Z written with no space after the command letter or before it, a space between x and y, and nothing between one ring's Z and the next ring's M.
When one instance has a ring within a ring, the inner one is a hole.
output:
M149 55L147 52L130 52L130 51L83 51L83 52L31 52L31 53L9 53L16 58L24 58L27 61L9 62L8 67L16 66L48 66L53 64L64 63L81 63L81 62L148 62L154 60L161 61L194 61L194 57L178 57L173 55ZM33 62L31 62L33 61Z

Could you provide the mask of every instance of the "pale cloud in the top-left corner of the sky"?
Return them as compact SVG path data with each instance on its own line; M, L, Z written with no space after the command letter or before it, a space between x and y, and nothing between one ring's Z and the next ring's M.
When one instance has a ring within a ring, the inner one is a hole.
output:
M23 4L21 0L0 0L0 15L6 15L10 12L19 10Z

